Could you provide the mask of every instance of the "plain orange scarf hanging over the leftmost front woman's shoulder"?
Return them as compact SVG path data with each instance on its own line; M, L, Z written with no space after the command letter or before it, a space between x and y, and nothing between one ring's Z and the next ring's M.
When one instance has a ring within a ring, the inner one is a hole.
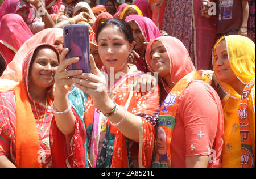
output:
M41 168L39 135L35 117L22 82L14 87L16 101L16 165ZM51 101L47 95L47 101Z

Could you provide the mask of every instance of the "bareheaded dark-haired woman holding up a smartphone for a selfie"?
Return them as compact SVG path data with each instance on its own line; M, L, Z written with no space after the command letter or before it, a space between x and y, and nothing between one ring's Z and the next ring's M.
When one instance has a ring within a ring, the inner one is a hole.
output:
M107 20L97 29L96 41L104 64L101 71L92 56L92 73L65 71L79 59L64 60L68 49L61 53L52 105L56 117L52 126L53 156L66 154L59 157L67 159L67 167L150 167L159 110L158 89L144 96L133 91L141 72L127 64L135 43L129 24L120 19ZM89 94L82 119L68 100L73 83ZM68 147L66 140L71 141Z

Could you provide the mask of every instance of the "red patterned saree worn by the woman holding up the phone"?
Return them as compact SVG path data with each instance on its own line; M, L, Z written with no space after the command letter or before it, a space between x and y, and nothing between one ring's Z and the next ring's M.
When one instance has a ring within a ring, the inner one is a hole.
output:
M120 106L126 106L127 111L137 115L141 121L139 143L126 138L117 127L111 125L92 104L88 97L84 119L76 114L75 134L69 148L61 147L54 141L65 143L63 135L53 124L53 155L57 147L67 151L67 167L150 167L155 143L155 123L159 111L158 90L141 96L141 92L133 91L133 85L140 71L134 65L129 65L130 71L109 88L109 96ZM55 123L55 122L54 122ZM62 139L62 140L61 140ZM57 147L56 147L57 146Z

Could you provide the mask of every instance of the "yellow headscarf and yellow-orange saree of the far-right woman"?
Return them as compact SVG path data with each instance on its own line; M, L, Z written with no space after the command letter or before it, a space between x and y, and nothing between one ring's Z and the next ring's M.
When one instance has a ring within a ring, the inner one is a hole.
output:
M228 50L229 63L234 74L243 83L248 84L255 78L255 44L247 37L239 35L221 37L213 48L213 66L216 61L214 54L216 46L225 38ZM217 73L216 73L217 76ZM217 76L218 78L218 76ZM241 135L238 107L241 103L241 95L232 86L220 82L223 90L229 95L223 105L224 110L224 148L222 150L222 167L242 167L241 159ZM255 167L255 83L247 97L247 114L250 123L251 147Z

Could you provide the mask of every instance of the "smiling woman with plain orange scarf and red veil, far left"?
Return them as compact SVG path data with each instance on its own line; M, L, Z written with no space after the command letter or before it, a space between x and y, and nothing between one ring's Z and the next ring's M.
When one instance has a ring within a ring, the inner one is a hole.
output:
M23 61L22 80L0 92L0 167L52 167L51 90L59 52L40 44Z

